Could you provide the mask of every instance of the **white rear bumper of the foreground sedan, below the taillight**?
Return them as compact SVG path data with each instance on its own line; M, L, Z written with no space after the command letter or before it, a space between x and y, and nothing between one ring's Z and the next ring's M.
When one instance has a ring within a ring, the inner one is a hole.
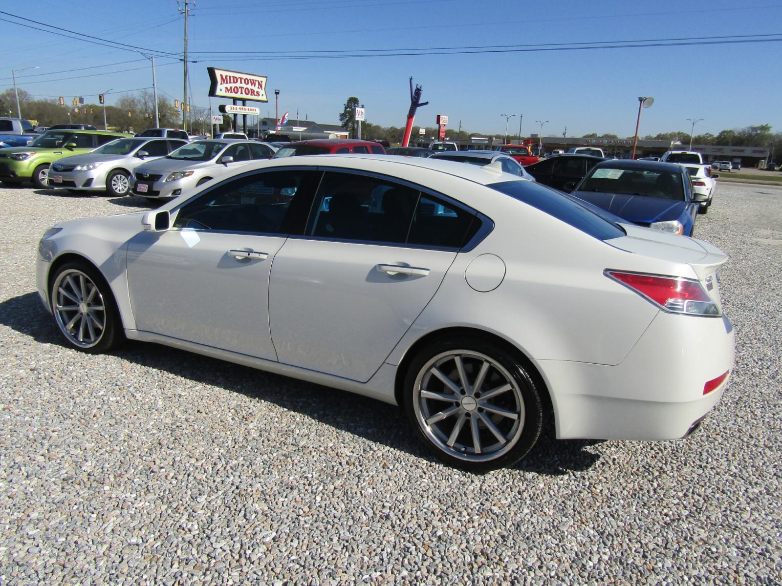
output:
M726 317L658 313L615 366L538 361L551 389L558 438L668 440L685 437L716 404L734 365Z

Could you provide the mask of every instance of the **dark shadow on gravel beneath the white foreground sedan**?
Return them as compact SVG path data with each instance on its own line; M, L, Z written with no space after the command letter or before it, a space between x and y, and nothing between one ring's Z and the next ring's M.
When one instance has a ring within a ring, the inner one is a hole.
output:
M37 293L0 302L0 323L41 344L70 348ZM368 441L437 462L414 437L403 411L384 402L162 345L128 341L112 354L139 366L272 402ZM600 458L585 451L592 444L594 441L556 440L547 431L514 469L552 476L588 470Z

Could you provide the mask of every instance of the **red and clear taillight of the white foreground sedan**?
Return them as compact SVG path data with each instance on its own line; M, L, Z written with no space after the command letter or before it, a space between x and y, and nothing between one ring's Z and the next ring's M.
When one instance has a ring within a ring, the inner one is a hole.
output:
M667 312L690 316L720 315L719 308L698 280L618 270L605 270L604 273Z

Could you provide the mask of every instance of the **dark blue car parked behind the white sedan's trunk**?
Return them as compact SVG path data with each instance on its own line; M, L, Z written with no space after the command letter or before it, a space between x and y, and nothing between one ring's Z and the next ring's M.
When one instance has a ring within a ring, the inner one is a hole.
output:
M685 236L692 236L703 198L683 166L640 160L597 163L571 195L639 226Z

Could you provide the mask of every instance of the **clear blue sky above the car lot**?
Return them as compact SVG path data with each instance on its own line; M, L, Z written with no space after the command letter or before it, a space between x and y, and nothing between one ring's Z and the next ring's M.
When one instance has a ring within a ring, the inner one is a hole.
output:
M179 5L181 5L180 2ZM176 0L59 0L4 2L6 13L62 29L120 41L160 53L181 53L183 23ZM650 95L640 134L689 130L687 118L703 118L696 134L769 123L782 130L780 42L730 45L635 47L472 55L359 56L340 59L274 59L242 52L313 52L487 47L640 41L669 38L777 34L782 39L782 3L750 2L517 2L511 0L196 0L189 18L192 103L208 105L207 66L268 76L280 114L296 109L303 120L338 123L349 96L367 108L367 120L404 126L410 104L408 77L423 87L429 105L416 123L435 125L447 114L449 127L464 130L538 132L545 135L635 130L637 98ZM20 22L5 14L0 18ZM26 22L39 28L38 24ZM51 29L48 29L51 30ZM59 30L58 32L63 32ZM40 97L97 95L113 88L152 85L149 61L137 52L91 45L0 20L4 39L0 88L17 85ZM220 52L218 54L218 52ZM422 51L431 52L431 51ZM248 56L250 59L248 59ZM121 63L131 62L131 63ZM156 59L160 91L181 98L178 57ZM97 67L67 73L86 67ZM127 70L127 71L126 71ZM96 75L97 74L97 75ZM90 76L90 77L84 77ZM63 79L70 78L70 79ZM33 83L37 82L37 83ZM89 98L89 96L94 96ZM108 103L119 97L108 96ZM218 103L213 99L217 112ZM248 105L251 105L248 102ZM258 105L258 104L254 104Z

